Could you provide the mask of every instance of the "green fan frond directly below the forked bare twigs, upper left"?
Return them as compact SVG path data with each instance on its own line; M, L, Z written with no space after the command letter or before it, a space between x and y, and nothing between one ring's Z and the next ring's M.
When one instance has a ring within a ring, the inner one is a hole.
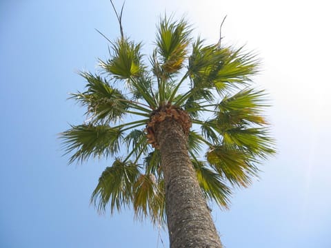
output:
M112 43L111 58L100 66L115 79L132 79L140 76L144 70L142 63L141 43L134 43L126 38L117 39Z

